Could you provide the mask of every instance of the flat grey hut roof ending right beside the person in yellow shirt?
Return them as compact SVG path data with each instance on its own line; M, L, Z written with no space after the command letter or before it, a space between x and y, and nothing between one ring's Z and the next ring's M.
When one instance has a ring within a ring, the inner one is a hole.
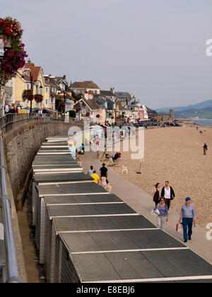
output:
M54 173L52 175L34 175L34 180L40 182L77 182L77 181L91 181L93 180L90 175L85 173Z

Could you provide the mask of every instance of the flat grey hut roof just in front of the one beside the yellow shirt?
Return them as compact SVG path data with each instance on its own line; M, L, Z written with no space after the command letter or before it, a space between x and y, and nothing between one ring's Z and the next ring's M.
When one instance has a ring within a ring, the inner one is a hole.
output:
M95 182L81 182L80 184L38 185L39 196L67 196L70 194L98 194L108 192Z

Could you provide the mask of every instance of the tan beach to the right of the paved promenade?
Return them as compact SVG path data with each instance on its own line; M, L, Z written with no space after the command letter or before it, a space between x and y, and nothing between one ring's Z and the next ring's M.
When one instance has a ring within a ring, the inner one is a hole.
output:
M184 199L191 197L196 206L197 223L206 227L212 222L212 128L201 127L199 134L194 127L167 127L145 131L145 160L139 171L139 161L131 160L131 152L122 152L119 167L129 170L127 179L153 195L154 185L164 185L169 180L175 190L172 208L180 211ZM203 146L208 145L204 156ZM111 152L110 152L111 153Z

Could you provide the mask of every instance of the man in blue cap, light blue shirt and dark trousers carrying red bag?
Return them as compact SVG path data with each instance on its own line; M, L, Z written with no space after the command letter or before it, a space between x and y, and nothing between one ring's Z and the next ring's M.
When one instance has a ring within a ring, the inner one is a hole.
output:
M184 243L187 243L188 237L189 240L192 240L193 223L194 226L196 223L196 211L194 204L191 203L191 198L189 197L185 199L185 204L182 206L179 223L181 223L181 221L183 226Z

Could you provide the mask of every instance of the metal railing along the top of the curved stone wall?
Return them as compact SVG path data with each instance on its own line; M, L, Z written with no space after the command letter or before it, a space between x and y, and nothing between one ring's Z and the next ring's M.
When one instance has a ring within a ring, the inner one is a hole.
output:
M1 134L10 132L27 122L51 121L51 122L69 122L69 117L57 114L37 114L37 113L8 113L0 118Z

